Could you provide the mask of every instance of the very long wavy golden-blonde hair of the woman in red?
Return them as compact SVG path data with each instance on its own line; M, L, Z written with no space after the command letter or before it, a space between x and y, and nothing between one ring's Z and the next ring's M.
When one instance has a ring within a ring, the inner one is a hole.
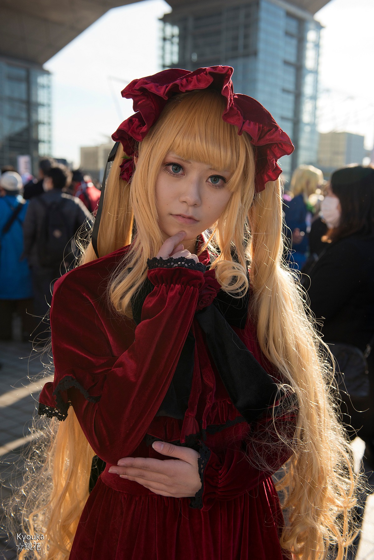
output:
M223 290L234 296L248 289L246 269L250 263L251 315L261 350L297 394L299 413L290 445L292 457L278 483L281 505L287 512L281 546L303 560L325 558L334 547L336 558L341 559L344 547L352 541L349 516L355 503L355 475L350 447L330 396L333 374L326 365L324 345L304 310L301 288L281 262L280 181L267 183L264 191L255 194L250 137L246 133L239 136L236 127L225 123L223 110L223 97L210 90L169 100L140 143L131 184L119 178L124 156L119 146L105 189L98 249L103 256L124 245L131 244L131 248L110 279L108 297L114 310L131 316L130 299L146 277L147 258L155 256L163 243L155 183L167 152L173 150L187 160L230 170L227 188L232 197L212 225L200 253L209 248L215 256L211 266L216 278ZM233 262L233 249L238 262ZM81 263L95 258L89 242ZM42 450L45 460L24 483L22 492L27 498L23 502L19 498L18 503L24 526L47 535L44 550L35 552L35 557L66 560L89 495L95 453L73 407L65 421L53 418L44 419L44 423L48 442ZM43 437L39 439L43 441ZM43 487L35 483L40 477Z

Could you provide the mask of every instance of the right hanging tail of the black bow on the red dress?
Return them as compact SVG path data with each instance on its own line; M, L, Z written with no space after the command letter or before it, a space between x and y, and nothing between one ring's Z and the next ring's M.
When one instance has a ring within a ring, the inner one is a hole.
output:
M213 304L196 312L206 343L234 407L248 423L273 404L278 386Z

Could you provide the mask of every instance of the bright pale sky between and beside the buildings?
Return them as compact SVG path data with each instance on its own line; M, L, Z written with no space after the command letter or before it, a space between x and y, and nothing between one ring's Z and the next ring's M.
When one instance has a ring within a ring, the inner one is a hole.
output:
M130 116L123 87L158 72L164 0L113 8L44 68L52 79L52 153L79 165L80 146L107 141ZM374 1L330 0L315 18L325 26L320 54L318 130L347 130L374 141Z

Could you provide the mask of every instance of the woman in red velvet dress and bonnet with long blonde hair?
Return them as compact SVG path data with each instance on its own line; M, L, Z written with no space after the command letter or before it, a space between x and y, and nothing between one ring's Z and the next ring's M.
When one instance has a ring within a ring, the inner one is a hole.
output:
M350 542L349 447L280 262L293 146L232 72L122 92L136 114L93 239L54 287L45 485L24 505L38 558L341 559Z

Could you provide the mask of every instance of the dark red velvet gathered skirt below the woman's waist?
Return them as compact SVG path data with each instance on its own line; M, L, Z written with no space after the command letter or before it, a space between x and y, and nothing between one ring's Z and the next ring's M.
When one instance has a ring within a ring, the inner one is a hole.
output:
M82 512L70 560L289 560L279 544L283 515L271 478L201 511L190 498L159 496L135 482L132 493L118 491L103 475Z

